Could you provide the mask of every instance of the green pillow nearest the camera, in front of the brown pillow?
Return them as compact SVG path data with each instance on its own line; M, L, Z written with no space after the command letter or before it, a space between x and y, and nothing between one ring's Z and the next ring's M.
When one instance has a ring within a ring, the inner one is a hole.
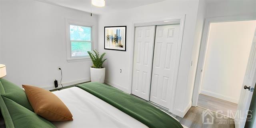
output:
M51 122L42 118L41 116L38 116L34 112L31 112L20 104L17 104L5 96L1 97L6 105L6 108L8 109L7 112L9 113L12 120L11 122L10 120L6 122L6 118L4 118L5 122L11 126L10 128L12 128L12 126L15 128L56 128Z

